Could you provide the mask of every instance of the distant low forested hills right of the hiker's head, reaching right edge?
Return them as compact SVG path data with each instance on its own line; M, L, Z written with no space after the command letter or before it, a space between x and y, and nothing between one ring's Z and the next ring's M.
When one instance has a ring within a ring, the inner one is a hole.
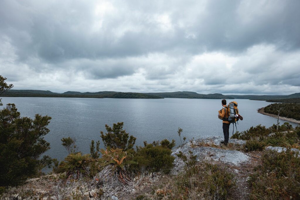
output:
M250 99L250 100L274 100L274 99L293 99L300 98L300 93L290 95L229 95L235 99Z

